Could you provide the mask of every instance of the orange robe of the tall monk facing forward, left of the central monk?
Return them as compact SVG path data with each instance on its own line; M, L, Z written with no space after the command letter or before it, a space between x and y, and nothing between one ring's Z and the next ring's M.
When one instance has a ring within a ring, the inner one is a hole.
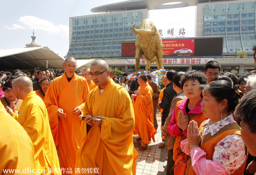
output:
M74 115L72 111L79 105L83 111L84 101L88 93L89 88L84 77L74 74L68 82L64 73L52 81L44 97L52 136L55 146L58 145L60 167L72 168L73 173L82 135L80 133L81 121L78 119L79 114ZM66 117L58 117L57 111L59 108L63 109Z

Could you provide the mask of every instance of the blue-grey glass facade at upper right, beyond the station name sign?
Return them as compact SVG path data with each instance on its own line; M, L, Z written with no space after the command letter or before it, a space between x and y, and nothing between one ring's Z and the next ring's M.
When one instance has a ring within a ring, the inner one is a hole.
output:
M252 55L255 14L255 1L205 5L203 36L223 36L223 55L235 55L239 50Z

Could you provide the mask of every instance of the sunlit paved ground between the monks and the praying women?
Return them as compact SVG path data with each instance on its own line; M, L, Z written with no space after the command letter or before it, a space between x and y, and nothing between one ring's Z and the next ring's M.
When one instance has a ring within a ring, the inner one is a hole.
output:
M166 165L167 151L164 148L159 148L156 146L158 143L162 142L161 138L161 122L158 123L158 129L155 140L156 142L150 142L148 148L145 151L139 151L140 142L136 142L138 136L133 135L134 148L139 153L139 157L136 159L136 175L150 174L150 175L165 175L166 170L163 168L163 165Z

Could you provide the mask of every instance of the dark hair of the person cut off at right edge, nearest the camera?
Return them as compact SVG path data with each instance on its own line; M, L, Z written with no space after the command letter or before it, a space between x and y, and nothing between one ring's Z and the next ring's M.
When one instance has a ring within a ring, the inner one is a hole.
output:
M256 134L256 89L249 91L236 106L234 116L249 126L250 132Z

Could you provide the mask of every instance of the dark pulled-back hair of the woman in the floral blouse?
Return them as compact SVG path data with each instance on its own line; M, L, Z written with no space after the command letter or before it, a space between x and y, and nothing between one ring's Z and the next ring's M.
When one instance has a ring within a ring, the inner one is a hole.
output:
M235 110L240 95L232 88L231 83L226 80L217 80L203 87L203 91L209 92L218 102L223 99L228 100L228 112Z

